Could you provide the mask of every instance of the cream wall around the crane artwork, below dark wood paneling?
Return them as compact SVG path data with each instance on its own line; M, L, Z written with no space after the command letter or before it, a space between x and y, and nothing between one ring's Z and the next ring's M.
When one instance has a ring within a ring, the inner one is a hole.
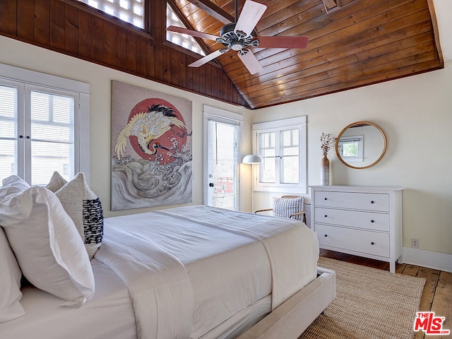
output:
M248 141L251 138L251 111L242 107L225 104L218 100L211 100L201 95L171 88L161 83L148 81L137 76L114 71L88 61L83 61L64 54L35 47L30 44L18 42L0 36L0 63L22 67L32 71L49 73L54 76L71 78L90 84L90 186L102 201L105 217L143 213L155 208L140 208L138 210L124 210L112 212L110 208L110 143L111 143L111 81L117 80L131 85L157 90L177 97L191 100L193 107L193 202L203 203L203 105L218 107L242 114L244 116L244 133L242 138ZM242 156L251 152L248 142L241 143ZM249 177L249 168L243 167L244 176ZM251 198L251 189L248 183L239 188L246 203ZM173 207L173 206L166 206ZM244 209L240 206L240 209Z

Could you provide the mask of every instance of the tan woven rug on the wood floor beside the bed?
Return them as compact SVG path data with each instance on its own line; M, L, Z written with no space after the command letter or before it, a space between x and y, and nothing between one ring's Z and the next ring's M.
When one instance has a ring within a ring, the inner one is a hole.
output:
M425 279L319 258L335 270L336 298L299 339L412 339Z

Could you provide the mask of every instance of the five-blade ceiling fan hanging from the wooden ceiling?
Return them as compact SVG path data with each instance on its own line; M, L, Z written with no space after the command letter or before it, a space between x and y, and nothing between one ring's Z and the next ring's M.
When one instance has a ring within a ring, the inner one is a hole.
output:
M219 57L221 54L229 52L230 49L238 52L240 60L246 66L249 73L255 74L263 70L262 65L259 63L256 56L251 52L249 47L261 47L261 48L306 48L309 37L254 37L254 28L256 27L258 20L261 19L263 13L266 11L267 6L259 4L252 0L246 0L237 19L237 0L235 2L235 23L228 23L224 25L220 30L220 36L211 35L203 32L197 32L196 30L188 30L177 26L168 26L167 30L170 32L177 32L181 34L187 34L194 37L201 37L202 39L213 40L223 44L225 48L218 49L213 53L206 55L192 64L189 67L199 67L209 61Z

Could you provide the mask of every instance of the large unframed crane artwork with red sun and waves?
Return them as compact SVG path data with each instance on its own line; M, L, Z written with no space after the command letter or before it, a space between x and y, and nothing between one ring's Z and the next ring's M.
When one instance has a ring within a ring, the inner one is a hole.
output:
M191 101L112 82L112 210L191 202Z

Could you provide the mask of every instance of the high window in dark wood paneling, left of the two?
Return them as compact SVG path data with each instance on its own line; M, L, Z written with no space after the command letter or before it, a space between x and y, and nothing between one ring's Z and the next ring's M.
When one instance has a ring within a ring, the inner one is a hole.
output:
M144 28L145 0L78 0L93 8L119 18L126 23Z

